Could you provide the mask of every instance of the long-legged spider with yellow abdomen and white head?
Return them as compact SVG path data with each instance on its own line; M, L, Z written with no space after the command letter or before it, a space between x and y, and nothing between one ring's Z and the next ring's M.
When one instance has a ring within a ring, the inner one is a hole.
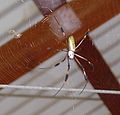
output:
M94 69L94 65L93 65L93 63L91 63L88 59L86 59L86 58L84 58L83 56L77 54L77 53L76 53L76 50L81 46L81 44L82 44L82 43L84 42L84 40L87 38L88 33L89 33L89 30L84 34L82 40L78 43L77 46L76 46L76 44L75 44L75 38L74 38L72 35L69 36L68 39L67 39L68 48L65 49L65 50L61 50L61 51L64 51L64 52L67 53L66 56L65 56L65 58L64 58L62 61L56 63L55 65L53 65L53 66L51 66L51 67L40 68L40 69L48 69L48 68L52 68L52 67L57 67L57 66L59 66L61 63L63 63L63 62L67 59L67 72L66 72L66 75L65 75L65 79L64 79L64 82L63 82L62 86L60 87L60 89L54 94L55 96L61 91L61 89L64 87L65 83L66 83L67 80L68 80L69 71L70 71L70 67L71 67L71 65L70 65L70 60L75 60L75 61L79 64L79 66L81 67L81 69L82 69L82 72L83 72L83 74L84 74L84 78L85 78L86 83L85 83L82 91L80 92L80 94L84 91L84 89L85 89L85 87L86 87L86 85L87 85L87 83L88 83L88 77L87 77L87 74L86 74L86 71L85 71L84 67L83 67L82 64L78 61L77 58L80 58L80 59L86 61L86 62L92 67L92 69ZM63 34L65 35L65 33L63 33Z

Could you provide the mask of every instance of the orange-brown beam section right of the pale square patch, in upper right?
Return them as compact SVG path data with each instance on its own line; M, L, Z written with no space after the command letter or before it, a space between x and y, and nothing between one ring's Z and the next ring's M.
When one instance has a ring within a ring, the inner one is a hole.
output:
M75 0L70 5L82 22L82 28L75 35L78 39L88 28L94 30L120 12L119 0Z

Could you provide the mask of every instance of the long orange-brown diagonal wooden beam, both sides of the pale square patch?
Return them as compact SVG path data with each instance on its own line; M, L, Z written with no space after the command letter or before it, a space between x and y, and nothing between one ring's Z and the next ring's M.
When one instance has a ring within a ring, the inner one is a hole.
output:
M80 40L88 28L93 30L117 15L120 12L119 4L119 0L70 2L83 25L75 33L76 38ZM12 82L63 47L65 44L50 31L48 23L39 22L25 31L20 39L13 39L0 48L0 82Z

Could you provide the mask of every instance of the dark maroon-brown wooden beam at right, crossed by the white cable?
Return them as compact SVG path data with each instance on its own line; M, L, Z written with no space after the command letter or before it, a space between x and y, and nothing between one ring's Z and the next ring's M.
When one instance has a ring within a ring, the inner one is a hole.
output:
M92 44L91 38L86 39L77 53L86 57L94 64L94 71L81 59L78 59L86 70L88 79L95 89L120 90L120 84L114 77L109 66L103 60L97 48ZM112 115L120 114L120 95L99 94Z

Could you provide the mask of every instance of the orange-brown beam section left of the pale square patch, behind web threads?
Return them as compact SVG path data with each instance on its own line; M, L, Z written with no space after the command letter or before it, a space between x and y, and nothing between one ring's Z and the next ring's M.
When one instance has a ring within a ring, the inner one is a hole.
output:
M0 83L12 82L65 46L44 27L37 24L0 48Z

